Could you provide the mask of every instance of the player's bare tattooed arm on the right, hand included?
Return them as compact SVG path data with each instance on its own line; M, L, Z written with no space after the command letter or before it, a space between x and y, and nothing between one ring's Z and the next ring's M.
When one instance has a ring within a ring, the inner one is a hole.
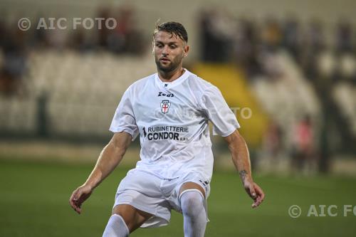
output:
M232 161L234 162L236 170L239 172L242 184L244 184L247 194L254 200L252 204L252 207L254 208L261 204L265 194L263 193L263 190L253 182L251 162L244 137L239 134L238 130L235 130L235 132L224 137L224 139L229 145Z

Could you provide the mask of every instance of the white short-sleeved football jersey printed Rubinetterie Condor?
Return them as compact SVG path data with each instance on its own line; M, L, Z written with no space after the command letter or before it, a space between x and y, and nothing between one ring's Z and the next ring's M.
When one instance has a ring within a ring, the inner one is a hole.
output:
M209 120L214 135L226 137L240 127L216 86L185 70L172 83L157 73L130 85L110 125L112 132L140 134L136 169L162 179L199 172L211 180L213 153Z

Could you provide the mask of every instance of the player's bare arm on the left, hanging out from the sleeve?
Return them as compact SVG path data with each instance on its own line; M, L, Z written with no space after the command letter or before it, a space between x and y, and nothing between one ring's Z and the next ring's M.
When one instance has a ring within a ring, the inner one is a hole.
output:
M124 154L131 143L132 137L127 132L118 132L112 137L110 142L100 153L98 161L88 179L82 186L73 191L70 196L69 204L80 214L80 206L89 198L95 187L103 181L117 167L124 157Z

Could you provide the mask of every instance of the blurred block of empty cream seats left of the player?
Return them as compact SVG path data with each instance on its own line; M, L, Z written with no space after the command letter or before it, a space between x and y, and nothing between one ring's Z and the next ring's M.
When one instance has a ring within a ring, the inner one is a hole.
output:
M28 98L1 100L1 129L35 131L38 98L44 95L49 134L105 135L126 88L155 72L151 57L110 53L38 51L29 62Z

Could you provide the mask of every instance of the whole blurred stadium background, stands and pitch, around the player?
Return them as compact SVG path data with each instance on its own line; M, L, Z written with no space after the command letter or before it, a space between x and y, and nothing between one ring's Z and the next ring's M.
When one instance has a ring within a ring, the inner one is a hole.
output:
M82 216L68 198L110 139L128 85L155 73L158 19L186 26L184 67L221 89L267 193L251 211L224 141L213 137L206 236L355 235L356 214L288 216L293 204L356 205L355 9L347 0L1 0L0 236L100 236L138 139ZM18 27L23 17L28 31ZM66 30L36 29L41 18L62 17ZM118 24L70 29L87 17ZM173 219L132 236L182 236L182 217Z

